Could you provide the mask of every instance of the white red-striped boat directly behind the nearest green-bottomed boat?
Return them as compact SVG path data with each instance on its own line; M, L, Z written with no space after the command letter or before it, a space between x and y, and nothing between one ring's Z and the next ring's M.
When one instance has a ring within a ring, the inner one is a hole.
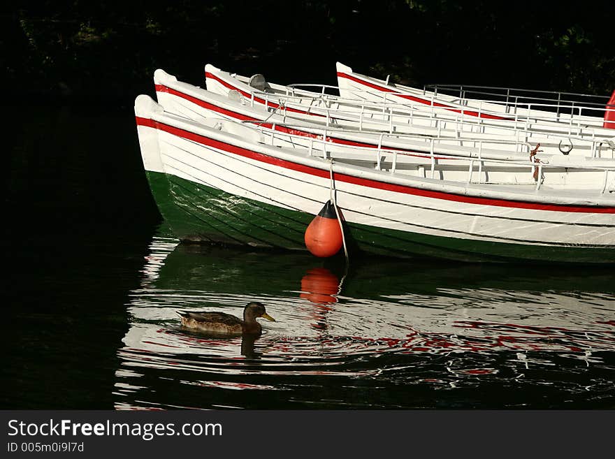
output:
M317 152L314 154L343 158L344 161L370 168L382 169L389 163L389 170L396 173L432 178L437 175L442 180L468 180L468 159L475 159L477 167L471 177L474 182L537 182L535 166L528 163L533 145L517 142L512 136L511 140L503 136L495 139L486 135L470 137L470 133L463 133L463 136L454 133L446 136L447 131L428 136L430 131L420 128L417 128L416 135L341 129L326 123L321 117L292 117L283 110L266 110L262 105L252 103L252 99L245 99L235 92L230 92L229 96L221 96L180 82L161 69L154 72L154 85L158 102L167 112L196 122L208 122L212 117L223 117L236 122L252 123L255 127L258 126L262 134L262 143L284 147L300 145ZM542 141L549 142L546 139ZM595 170L567 173L571 163L615 167L612 160L603 161L584 156L572 159L559 153L539 153L533 158L534 161L548 163L552 167L556 164L560 166L558 174L551 173L542 177L541 184L547 186L565 183L566 187L593 187L595 180L600 180L601 177L597 177ZM551 171L553 172L554 168Z

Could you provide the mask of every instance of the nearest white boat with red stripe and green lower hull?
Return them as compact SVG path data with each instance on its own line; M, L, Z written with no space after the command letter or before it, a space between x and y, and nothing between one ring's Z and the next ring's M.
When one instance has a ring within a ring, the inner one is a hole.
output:
M590 168L602 180L587 188L440 180L266 145L261 131L245 124L197 123L148 96L137 97L135 114L152 193L180 239L305 250L305 228L333 199L351 251L615 261L609 168ZM551 174L550 165L541 168ZM574 164L567 172L586 169Z

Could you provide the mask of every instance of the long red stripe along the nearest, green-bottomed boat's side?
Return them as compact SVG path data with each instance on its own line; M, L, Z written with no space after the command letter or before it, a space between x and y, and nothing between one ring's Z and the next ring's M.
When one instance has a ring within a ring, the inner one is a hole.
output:
M260 161L262 163L268 163L268 164L272 164L273 166L286 168L290 170L296 170L298 172L305 173L308 175L314 175L316 177L325 177L325 178L329 177L328 170L314 168L311 166L304 166L303 164L298 164L292 161L275 158L273 156L269 156L268 154L263 154L259 152L254 152L252 150L247 150L245 148L238 147L236 145L231 145L229 143L225 143L219 140L214 140L212 138L201 136L200 134L196 134L194 132L185 131L184 129L176 128L174 126L169 126L168 124L157 122L157 121L154 121L153 119L136 117L136 123L138 126L147 126L147 127L151 127L154 129L159 129L160 131L171 133L174 136L186 138L188 140L193 140L194 142L201 143L203 145L208 145L208 147L213 147L219 150L224 150L226 152L237 154L238 156L243 156L249 159L254 159L255 161ZM615 207L563 205L563 204L538 204L538 203L528 203L525 201L509 201L506 199L480 198L476 196L451 194L451 193L446 193L444 191L431 191L431 190L426 190L426 189L421 189L421 188L407 187L405 185L384 183L384 182L379 182L377 180L364 179L360 177L355 177L354 175L346 175L346 174L340 174L340 173L335 173L334 178L335 180L340 180L341 182L356 184L356 185L359 185L360 187L382 189L385 191L393 191L394 193L410 194L413 196L423 196L425 198L433 198L433 199L443 199L445 201L455 201L458 203L491 205L491 206L498 206L498 207L514 207L514 208L519 208L519 209L530 209L530 210L550 210L554 212L585 212L585 213L594 213L594 214L615 214Z

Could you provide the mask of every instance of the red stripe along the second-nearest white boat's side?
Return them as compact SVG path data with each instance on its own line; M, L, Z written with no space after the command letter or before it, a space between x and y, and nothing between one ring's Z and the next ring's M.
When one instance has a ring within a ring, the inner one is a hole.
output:
M258 121L259 119L256 119L254 117L248 117L246 115L243 115L241 113L238 112L233 112L232 110L226 110L226 108L222 108L219 107L218 105L214 105L212 103L209 102L205 102L202 99L197 99L196 97L193 96L189 96L188 94L185 94L183 92L179 92L176 89L164 86L164 85L156 85L156 92L166 92L167 94L172 94L173 96L178 96L181 97L182 99L186 99L187 101L190 101L192 103L196 103L196 105L203 107L207 110L212 110L213 112L217 112L217 113L222 113L223 115L226 115L228 117L231 117L233 119L241 119L243 121L247 121L247 120L252 120L252 121ZM273 123L266 123L266 122L262 122L258 124L259 126L263 126L267 129L273 129ZM294 129L294 128L287 128L285 126L279 126L279 125L275 125L275 131L279 131L279 132L284 132L287 134L291 134L292 136L301 136L301 137L307 137L307 138L315 138L315 139L321 139L322 136L319 134L314 134L311 132L306 132L306 131L301 131L299 129ZM376 148L376 145L372 144L372 143L363 143L363 142L356 142L355 140L345 140L342 138L336 138L336 137L330 137L327 136L326 137L326 141L327 142L331 142L331 143L337 143L339 145L349 145L351 147L369 147L369 148ZM386 150L386 147L385 147ZM407 154L407 156L416 156L418 158L430 158L431 156L425 156L425 154L421 154L421 153L425 153L425 152L417 152L414 150L405 150L403 148L389 148L388 150L397 150L398 152L403 152L403 154ZM415 153L415 154L412 154ZM440 156L434 156L434 159L443 159Z

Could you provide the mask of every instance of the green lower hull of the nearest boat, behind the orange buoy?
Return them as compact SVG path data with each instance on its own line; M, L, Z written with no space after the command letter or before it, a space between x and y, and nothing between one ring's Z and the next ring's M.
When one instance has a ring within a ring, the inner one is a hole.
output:
M191 242L303 250L314 215L227 194L174 175L147 171L152 194L175 235ZM615 263L614 249L550 247L442 238L347 223L349 252L458 261Z

